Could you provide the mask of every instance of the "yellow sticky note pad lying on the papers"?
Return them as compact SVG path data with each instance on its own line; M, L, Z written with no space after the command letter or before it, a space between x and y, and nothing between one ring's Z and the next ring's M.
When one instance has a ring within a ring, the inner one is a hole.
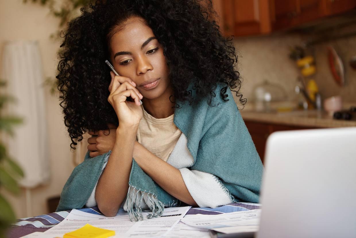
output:
M115 236L115 231L101 229L86 224L78 230L64 234L63 238L106 238L110 236Z

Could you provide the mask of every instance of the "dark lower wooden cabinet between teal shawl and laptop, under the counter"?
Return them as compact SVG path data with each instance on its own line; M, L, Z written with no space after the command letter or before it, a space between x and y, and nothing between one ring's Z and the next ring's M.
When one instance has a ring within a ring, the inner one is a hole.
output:
M291 131L291 130L305 130L315 129L315 127L301 127L301 126L286 126L272 123L262 123L255 121L245 121L248 132L252 137L253 143L255 143L258 155L260 155L262 163L265 158L266 142L271 133L276 131Z

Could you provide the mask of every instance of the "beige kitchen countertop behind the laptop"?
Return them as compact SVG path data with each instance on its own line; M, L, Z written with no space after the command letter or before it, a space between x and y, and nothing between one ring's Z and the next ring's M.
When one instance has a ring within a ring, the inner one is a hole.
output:
M240 110L244 121L255 121L288 126L303 127L353 127L356 121L336 120L324 111L291 111L291 112L256 112L253 110Z

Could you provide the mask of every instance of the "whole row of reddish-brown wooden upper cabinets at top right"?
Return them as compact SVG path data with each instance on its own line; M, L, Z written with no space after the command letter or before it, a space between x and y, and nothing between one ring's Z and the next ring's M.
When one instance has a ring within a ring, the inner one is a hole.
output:
M260 35L356 8L356 0L213 0L228 37Z

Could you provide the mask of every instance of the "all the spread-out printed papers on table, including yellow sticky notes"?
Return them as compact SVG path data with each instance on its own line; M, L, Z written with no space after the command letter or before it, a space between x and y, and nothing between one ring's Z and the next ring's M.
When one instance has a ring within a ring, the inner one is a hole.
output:
M112 237L210 237L209 229L225 234L258 231L261 209L219 215L184 215L190 207L164 208L161 217L131 222L121 210L115 217L105 217L73 209L62 222L46 232L24 237L106 238ZM147 213L143 213L145 216ZM93 227L94 226L94 227Z

